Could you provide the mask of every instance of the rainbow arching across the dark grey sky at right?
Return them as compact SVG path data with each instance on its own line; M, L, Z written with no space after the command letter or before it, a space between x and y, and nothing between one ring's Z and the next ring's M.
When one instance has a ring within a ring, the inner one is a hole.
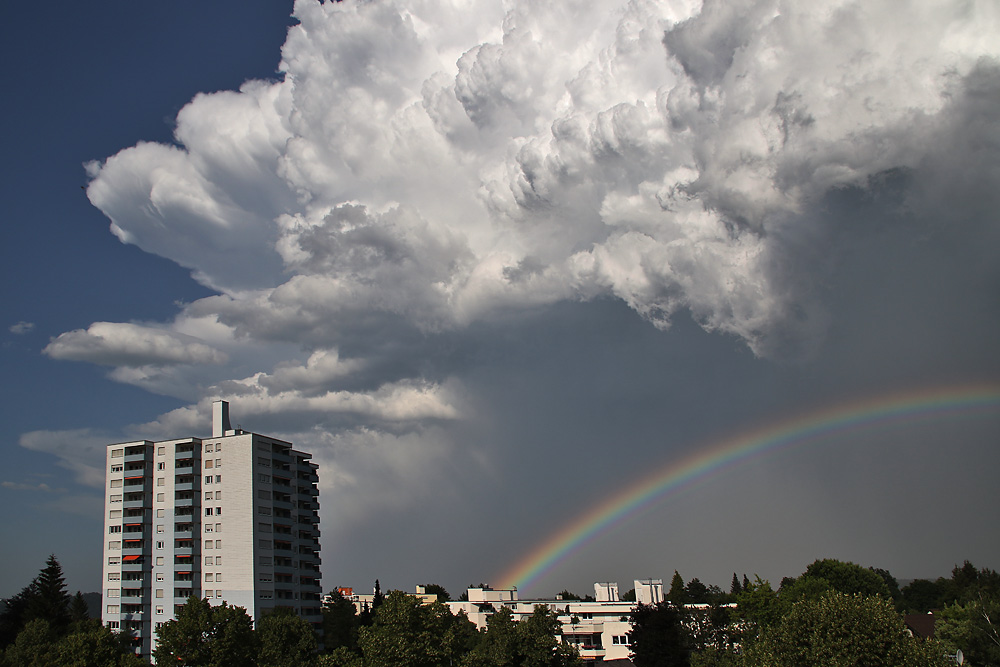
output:
M661 502L669 494L731 470L756 455L859 429L990 412L998 408L998 384L939 387L841 403L726 438L669 463L579 515L504 573L499 578L500 587L522 590L530 587L571 553L615 524Z

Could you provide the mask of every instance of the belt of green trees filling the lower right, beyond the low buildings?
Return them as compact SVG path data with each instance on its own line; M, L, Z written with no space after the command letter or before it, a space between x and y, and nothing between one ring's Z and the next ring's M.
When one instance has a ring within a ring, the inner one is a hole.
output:
M631 617L639 667L943 667L958 650L966 665L1000 666L1000 575L969 562L900 589L885 570L817 560L777 590L734 574L728 594L710 591L697 607L675 572L667 598ZM934 638L913 636L904 614L932 609Z

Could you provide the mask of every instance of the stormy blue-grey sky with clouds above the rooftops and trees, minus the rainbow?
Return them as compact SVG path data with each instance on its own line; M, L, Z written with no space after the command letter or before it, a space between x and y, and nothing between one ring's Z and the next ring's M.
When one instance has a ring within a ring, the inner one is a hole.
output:
M323 585L1000 569L987 0L6 3L0 596L99 590L105 445L320 464Z

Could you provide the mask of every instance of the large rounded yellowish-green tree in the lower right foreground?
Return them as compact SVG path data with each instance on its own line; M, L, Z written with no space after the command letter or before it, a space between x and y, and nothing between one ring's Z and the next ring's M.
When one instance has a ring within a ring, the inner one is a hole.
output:
M746 667L944 667L944 650L909 636L892 604L879 596L828 591L802 600L748 642Z

